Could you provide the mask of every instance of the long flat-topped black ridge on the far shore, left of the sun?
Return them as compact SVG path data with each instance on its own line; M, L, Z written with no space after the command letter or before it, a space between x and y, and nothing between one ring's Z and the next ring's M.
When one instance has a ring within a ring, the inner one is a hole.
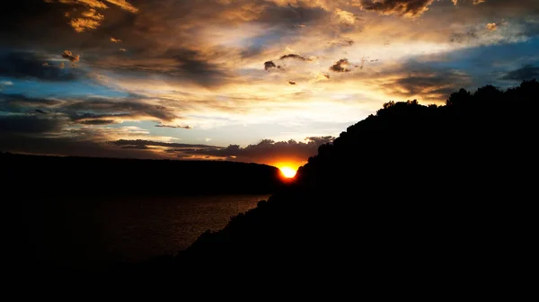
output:
M283 185L278 169L265 164L0 154L0 165L6 192L19 199L270 194Z

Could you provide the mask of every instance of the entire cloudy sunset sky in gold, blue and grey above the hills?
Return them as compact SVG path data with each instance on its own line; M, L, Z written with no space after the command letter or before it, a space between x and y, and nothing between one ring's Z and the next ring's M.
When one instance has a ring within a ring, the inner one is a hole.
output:
M537 0L17 0L0 151L287 163L384 102L539 78Z

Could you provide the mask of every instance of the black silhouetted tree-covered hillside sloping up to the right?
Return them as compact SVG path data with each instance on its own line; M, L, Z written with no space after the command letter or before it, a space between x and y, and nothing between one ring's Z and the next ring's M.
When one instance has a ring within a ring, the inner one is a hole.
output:
M534 81L441 107L386 103L320 147L290 190L128 271L378 286L499 276L532 244L538 95Z

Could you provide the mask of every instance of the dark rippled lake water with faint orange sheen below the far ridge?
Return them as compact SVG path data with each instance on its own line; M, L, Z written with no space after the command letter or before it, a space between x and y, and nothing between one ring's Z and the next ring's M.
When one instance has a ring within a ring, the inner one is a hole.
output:
M25 240L45 261L68 266L134 262L187 248L206 230L269 195L66 199L28 204Z

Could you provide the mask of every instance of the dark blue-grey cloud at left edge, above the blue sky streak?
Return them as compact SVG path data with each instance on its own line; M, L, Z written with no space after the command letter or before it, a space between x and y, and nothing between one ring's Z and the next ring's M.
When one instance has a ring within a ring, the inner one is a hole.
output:
M47 58L36 53L0 51L0 76L37 78L43 81L73 81L83 76L78 69L60 69L44 66L44 63L47 63Z

